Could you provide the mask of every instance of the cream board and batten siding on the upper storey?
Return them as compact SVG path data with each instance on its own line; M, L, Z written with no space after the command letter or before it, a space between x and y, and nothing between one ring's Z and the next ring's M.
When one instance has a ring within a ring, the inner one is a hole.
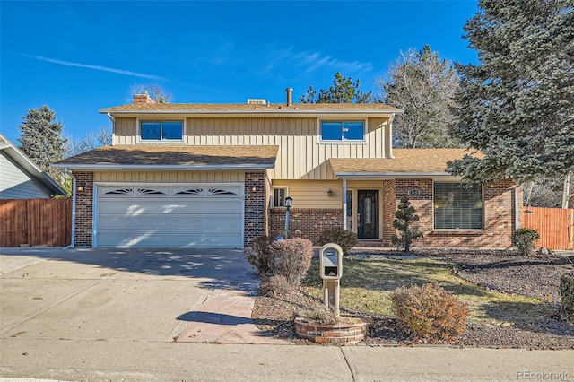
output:
M328 116L326 116L327 118ZM361 117L341 119L361 120ZM366 118L365 143L319 143L317 117L189 117L190 145L278 145L272 179L331 179L330 158L385 158L388 118ZM136 144L136 118L116 118L114 144Z

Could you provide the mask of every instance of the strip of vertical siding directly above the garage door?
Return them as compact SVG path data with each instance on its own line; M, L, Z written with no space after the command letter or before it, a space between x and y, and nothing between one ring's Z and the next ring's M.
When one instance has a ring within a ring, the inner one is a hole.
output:
M115 183L242 183L242 171L101 171L94 182Z

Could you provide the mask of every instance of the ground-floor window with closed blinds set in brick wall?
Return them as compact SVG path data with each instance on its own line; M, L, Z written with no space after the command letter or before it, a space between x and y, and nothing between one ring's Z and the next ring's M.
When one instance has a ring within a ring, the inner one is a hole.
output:
M483 187L434 184L435 230L483 230Z

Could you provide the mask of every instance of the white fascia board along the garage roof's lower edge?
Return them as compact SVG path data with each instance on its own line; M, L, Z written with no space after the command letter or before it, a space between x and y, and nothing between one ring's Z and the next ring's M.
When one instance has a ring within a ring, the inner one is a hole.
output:
M261 165L261 164L206 164L206 165L146 165L146 164L54 164L52 167L67 168L67 169L90 169L107 171L110 169L128 169L128 170L196 170L196 171L209 171L209 170L233 170L233 169L274 169L274 164Z

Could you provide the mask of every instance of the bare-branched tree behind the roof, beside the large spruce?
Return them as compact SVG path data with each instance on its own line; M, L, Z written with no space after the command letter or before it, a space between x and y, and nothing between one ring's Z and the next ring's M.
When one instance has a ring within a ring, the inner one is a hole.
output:
M455 124L451 112L458 88L458 76L453 65L440 59L427 45L421 51L409 49L391 65L386 79L378 79L384 103L403 114L393 122L396 147L457 147L460 143L448 135Z

